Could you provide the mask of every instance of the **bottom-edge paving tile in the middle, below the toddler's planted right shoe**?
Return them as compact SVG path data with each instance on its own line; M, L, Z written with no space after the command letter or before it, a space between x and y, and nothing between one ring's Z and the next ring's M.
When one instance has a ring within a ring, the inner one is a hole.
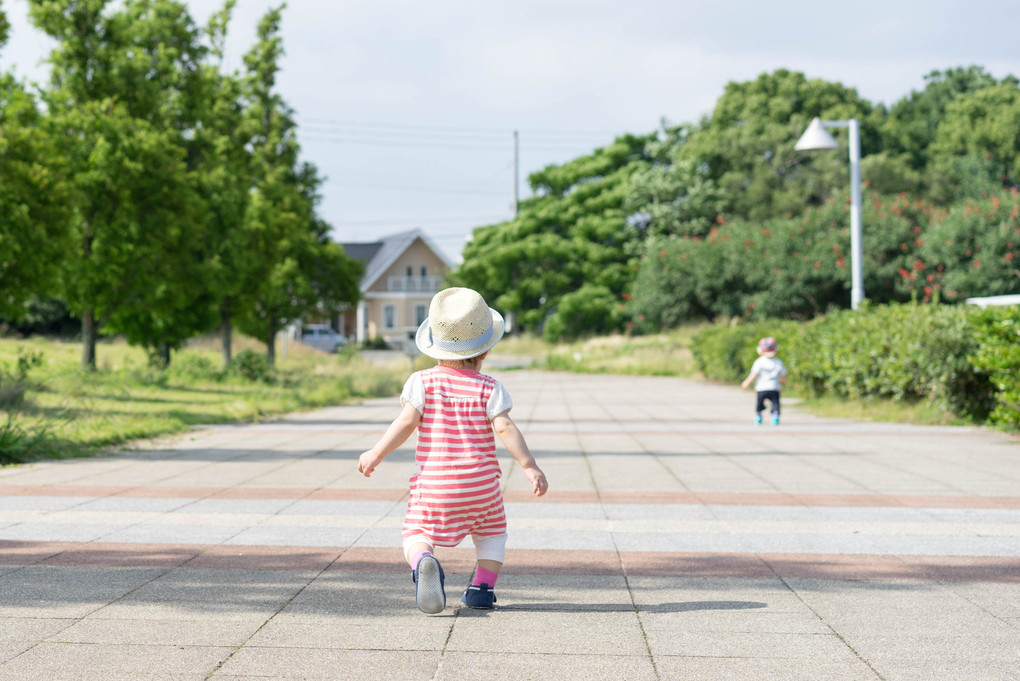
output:
M443 656L436 675L436 681L656 681L659 678L648 656L492 652L479 664L477 654L456 650Z

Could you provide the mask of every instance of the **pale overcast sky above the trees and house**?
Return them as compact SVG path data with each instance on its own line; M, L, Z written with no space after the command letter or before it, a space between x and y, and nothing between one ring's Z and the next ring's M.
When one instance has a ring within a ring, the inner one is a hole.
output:
M28 3L0 1L0 70L44 80ZM234 65L278 4L239 0ZM221 2L188 5L204 25ZM419 226L456 260L473 227L511 215L514 130L524 198L529 172L696 121L728 82L777 68L885 104L933 69L1020 75L1018 19L1017 0L290 0L279 90L337 241Z

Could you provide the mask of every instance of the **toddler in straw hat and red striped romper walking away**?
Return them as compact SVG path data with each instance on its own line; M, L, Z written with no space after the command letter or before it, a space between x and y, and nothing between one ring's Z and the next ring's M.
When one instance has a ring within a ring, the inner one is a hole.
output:
M434 555L436 546L456 546L467 535L477 563L461 603L482 610L496 603L493 588L506 555L507 526L494 431L531 482L531 491L541 496L549 489L510 419L510 395L479 372L503 328L503 317L476 292L436 294L415 344L439 366L411 374L400 396L400 415L358 460L358 471L368 477L418 429L401 533L418 609L429 615L446 608L446 574Z

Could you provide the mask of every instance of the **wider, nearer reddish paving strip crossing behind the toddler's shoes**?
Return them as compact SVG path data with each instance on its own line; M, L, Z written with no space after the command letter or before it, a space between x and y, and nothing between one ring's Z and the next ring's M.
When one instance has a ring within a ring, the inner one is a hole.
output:
M469 573L471 548L441 549L450 573ZM405 572L401 549L0 541L0 565L180 567L220 570ZM509 549L507 574L727 577L1020 583L1020 559L796 554L679 554Z

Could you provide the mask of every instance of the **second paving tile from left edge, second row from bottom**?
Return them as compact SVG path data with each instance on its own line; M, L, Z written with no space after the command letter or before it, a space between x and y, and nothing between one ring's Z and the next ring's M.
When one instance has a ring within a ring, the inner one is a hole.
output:
M97 645L184 645L237 647L258 629L252 621L116 620L87 618L58 633L44 636L51 643Z

